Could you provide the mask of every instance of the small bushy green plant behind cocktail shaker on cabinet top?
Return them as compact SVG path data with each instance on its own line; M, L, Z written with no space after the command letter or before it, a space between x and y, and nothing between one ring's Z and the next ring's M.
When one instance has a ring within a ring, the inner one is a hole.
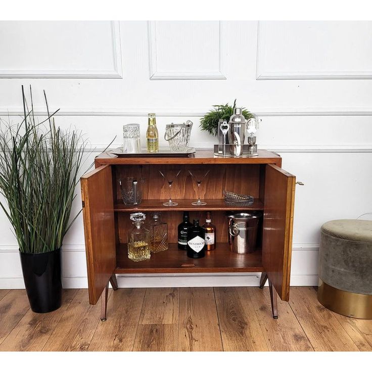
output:
M200 120L200 129L206 130L209 134L216 136L218 134L218 120L228 120L230 116L234 114L234 110L237 107L237 100L234 101L234 104L231 106L228 103L225 105L213 105L214 109L210 110L207 114L203 116ZM246 120L255 118L256 115L243 107L242 114ZM227 140L227 138L226 138Z

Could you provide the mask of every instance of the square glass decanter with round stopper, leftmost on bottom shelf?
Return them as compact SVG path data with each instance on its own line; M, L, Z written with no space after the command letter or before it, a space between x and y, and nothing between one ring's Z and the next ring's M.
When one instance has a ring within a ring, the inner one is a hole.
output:
M130 219L134 227L128 232L128 258L135 262L149 260L150 232L143 226L146 214L132 213Z

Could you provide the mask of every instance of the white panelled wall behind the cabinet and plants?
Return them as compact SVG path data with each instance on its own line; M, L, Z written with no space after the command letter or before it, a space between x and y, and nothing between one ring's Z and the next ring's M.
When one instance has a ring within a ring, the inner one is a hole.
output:
M283 157L297 187L292 285L317 284L319 228L372 211L372 22L0 22L0 116L19 120L21 84L42 89L57 123L97 155L147 113L190 118L191 142L211 105L238 99L261 118L258 144ZM143 138L144 140L144 138ZM164 144L164 141L161 141ZM77 190L79 193L79 190ZM75 210L80 205L80 195ZM63 247L64 287L86 287L82 217ZM121 286L257 285L257 275L127 275ZM0 288L22 288L18 247L0 213Z

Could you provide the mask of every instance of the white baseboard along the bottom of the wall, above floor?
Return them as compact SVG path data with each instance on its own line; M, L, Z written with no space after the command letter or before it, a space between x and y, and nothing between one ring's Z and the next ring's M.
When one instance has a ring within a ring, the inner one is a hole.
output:
M0 289L24 288L19 254L16 249L0 249ZM316 286L317 244L294 244L292 286ZM203 274L125 274L118 276L121 288L153 287L256 287L260 273ZM63 287L87 288L85 252L69 246L63 252Z

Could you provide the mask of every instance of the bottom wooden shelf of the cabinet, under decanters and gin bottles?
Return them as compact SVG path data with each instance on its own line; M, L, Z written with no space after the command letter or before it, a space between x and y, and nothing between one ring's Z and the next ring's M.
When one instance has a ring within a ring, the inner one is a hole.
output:
M186 251L179 250L176 243L169 249L152 253L151 259L133 262L128 258L126 244L120 244L116 251L115 273L176 273L176 272L262 272L262 253L232 253L227 243L218 243L214 251L206 252L204 258L192 259Z

